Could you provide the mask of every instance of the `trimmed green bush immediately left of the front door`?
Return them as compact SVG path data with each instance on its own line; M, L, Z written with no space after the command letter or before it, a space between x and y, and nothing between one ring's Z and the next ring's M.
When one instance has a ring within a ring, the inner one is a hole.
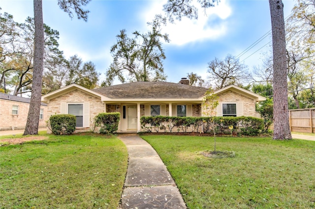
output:
M95 126L100 127L99 133L114 133L118 130L119 112L102 112L95 116Z

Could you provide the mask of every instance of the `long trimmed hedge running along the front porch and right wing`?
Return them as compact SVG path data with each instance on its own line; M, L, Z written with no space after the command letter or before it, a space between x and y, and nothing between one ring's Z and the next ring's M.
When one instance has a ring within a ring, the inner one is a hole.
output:
M218 133L258 135L263 130L263 120L255 117L170 117L142 116L141 128L150 132L203 132L210 133L214 125ZM239 129L240 128L240 129Z

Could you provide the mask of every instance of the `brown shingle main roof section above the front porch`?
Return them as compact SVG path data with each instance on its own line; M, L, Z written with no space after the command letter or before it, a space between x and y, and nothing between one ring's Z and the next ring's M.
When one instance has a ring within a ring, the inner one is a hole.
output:
M171 82L131 82L92 89L111 99L198 99L208 89Z

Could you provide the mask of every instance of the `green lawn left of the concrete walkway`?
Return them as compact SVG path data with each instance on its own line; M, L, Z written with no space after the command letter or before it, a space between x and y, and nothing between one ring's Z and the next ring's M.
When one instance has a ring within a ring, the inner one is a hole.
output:
M1 146L0 169L0 208L116 209L127 150L116 137L49 135Z

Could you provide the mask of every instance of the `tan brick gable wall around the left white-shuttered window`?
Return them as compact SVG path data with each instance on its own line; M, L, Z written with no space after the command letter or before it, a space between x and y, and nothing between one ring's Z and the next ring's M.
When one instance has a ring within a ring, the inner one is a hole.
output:
M90 103L90 128L94 125L95 116L100 112L104 112L104 104L100 99L82 91L74 90L49 101L47 108L48 118L51 115L61 113L61 103Z

